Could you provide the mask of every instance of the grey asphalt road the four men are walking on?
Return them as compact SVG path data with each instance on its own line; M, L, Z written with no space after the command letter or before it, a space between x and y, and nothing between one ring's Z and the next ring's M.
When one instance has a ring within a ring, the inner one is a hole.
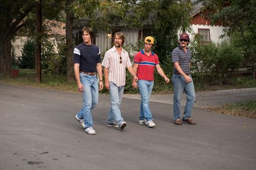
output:
M0 169L256 169L256 119L193 108L197 125L177 126L171 104L151 102L147 128L139 105L123 98L127 126L110 128L100 95L88 135L75 120L80 93L0 84Z

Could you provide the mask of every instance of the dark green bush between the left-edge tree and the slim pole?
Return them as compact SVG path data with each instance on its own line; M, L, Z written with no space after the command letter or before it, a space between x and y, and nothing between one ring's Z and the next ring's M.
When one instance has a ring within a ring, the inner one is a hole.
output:
M20 62L22 69L35 69L35 52L36 42L32 39L26 41L22 48L22 58Z

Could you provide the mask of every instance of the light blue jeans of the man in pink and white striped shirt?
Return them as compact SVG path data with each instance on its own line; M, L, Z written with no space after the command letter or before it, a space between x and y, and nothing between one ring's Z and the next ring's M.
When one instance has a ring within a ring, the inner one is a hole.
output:
M109 111L109 117L107 123L112 123L117 121L118 125L121 125L123 122L123 118L121 116L121 111L119 109L119 105L121 104L123 97L123 90L125 86L118 87L115 83L109 82L109 96L111 108Z

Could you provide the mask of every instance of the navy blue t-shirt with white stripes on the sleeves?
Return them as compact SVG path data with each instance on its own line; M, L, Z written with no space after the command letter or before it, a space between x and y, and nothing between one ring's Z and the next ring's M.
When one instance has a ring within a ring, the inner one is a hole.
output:
M96 65L101 62L100 53L100 48L97 45L86 45L83 42L74 49L73 63L80 63L80 71L96 72Z

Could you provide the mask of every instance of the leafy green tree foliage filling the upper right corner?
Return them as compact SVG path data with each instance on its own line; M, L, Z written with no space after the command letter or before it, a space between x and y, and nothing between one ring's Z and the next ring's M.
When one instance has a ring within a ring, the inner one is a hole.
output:
M224 35L232 37L233 44L241 50L244 65L251 67L255 77L256 66L256 2L254 0L204 1L205 18L214 25L224 25Z

